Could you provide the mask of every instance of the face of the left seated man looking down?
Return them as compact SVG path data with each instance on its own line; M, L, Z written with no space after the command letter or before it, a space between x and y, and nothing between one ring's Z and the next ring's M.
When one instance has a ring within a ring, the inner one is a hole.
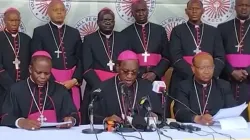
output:
M32 66L29 67L31 78L39 86L44 86L50 78L51 61L49 59L37 58Z

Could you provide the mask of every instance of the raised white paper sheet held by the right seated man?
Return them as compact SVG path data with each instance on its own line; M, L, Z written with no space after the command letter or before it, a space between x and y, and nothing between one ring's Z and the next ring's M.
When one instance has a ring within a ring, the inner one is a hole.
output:
M238 117L247 108L247 104L243 103L236 107L220 109L214 116L213 121L223 118Z

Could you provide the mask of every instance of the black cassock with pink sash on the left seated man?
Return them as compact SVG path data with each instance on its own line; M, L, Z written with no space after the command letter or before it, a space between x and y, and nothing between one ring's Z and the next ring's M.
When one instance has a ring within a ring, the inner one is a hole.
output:
M46 93L48 93L47 96ZM64 117L74 117L77 121L76 125L79 124L76 107L65 87L55 82L38 87L30 78L11 87L3 104L4 115L1 124L15 127L15 121L18 118L39 120L40 112L46 118L45 122L62 122Z

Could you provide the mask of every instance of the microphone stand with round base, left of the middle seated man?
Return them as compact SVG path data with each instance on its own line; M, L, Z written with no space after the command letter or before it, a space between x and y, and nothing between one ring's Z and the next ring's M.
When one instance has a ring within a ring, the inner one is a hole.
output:
M90 120L90 128L83 129L82 133L84 134L99 134L103 132L103 129L95 129L94 128L94 102L97 99L97 96L89 104L88 112L89 112L89 120Z

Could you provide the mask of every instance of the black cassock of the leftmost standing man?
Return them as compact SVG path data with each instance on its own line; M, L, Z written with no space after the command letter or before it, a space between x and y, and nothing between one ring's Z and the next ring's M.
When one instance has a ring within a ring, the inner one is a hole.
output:
M0 106L11 85L29 75L30 40L28 35L21 32L16 36L6 30L0 32ZM20 61L18 69L14 64L15 58Z

